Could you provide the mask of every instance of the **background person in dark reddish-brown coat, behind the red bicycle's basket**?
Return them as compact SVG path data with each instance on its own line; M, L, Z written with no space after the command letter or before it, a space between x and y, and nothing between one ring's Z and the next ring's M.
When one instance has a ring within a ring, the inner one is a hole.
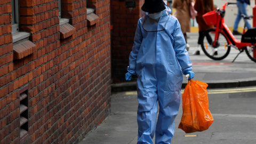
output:
M200 54L200 46L201 46L201 39L204 35L204 32L207 29L213 28L213 25L207 25L204 21L203 15L207 12L214 10L213 0L196 0L194 5L195 10L197 11L196 15L196 22L198 23L199 28L199 37L197 42L196 51L193 53L194 55ZM209 36L210 37L210 36Z

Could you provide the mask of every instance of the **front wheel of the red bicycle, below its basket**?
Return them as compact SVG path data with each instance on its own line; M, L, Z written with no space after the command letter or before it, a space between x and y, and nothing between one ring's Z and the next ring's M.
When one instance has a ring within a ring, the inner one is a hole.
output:
M219 33L216 46L213 46L214 38L215 29L206 30L201 39L201 47L207 57L213 60L222 60L226 58L230 52L228 40L223 34Z

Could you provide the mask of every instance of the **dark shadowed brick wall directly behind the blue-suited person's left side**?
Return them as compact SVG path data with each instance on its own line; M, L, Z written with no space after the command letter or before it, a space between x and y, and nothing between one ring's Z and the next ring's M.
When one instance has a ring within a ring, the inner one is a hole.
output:
M141 17L143 0L134 0L135 7L126 7L125 1L111 1L111 68L113 83L125 82L137 22ZM133 76L135 78L135 76Z

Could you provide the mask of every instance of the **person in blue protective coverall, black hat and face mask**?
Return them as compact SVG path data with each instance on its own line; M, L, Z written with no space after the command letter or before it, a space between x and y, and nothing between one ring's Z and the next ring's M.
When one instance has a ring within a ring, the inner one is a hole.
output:
M182 73L194 77L178 20L163 0L145 0L125 74L137 75L138 144L171 143L178 114ZM159 104L159 114L157 109Z

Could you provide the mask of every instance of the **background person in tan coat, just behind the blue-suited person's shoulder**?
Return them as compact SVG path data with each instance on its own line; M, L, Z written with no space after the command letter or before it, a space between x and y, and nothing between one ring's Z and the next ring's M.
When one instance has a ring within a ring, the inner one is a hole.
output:
M180 22L181 31L186 41L186 49L189 50L187 33L190 32L190 11L189 4L194 0L173 0L172 7L176 9L176 18Z

